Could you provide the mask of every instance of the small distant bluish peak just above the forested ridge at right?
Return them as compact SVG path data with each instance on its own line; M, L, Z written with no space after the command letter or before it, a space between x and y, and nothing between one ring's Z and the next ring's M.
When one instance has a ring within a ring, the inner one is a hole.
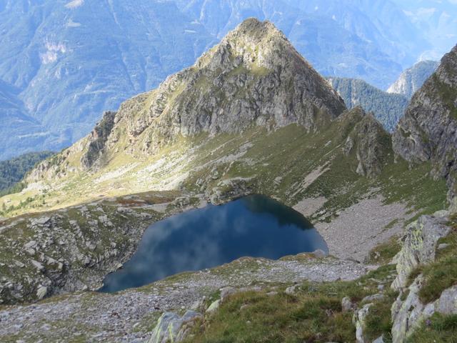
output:
M388 93L401 94L411 99L423 83L436 71L438 61L421 61L401 73L387 90Z

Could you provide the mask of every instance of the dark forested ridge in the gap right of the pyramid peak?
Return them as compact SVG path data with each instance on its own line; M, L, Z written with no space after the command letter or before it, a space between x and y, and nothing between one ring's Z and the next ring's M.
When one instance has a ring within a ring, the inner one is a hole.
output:
M388 94L358 79L329 78L333 88L343 98L348 109L361 106L373 112L384 128L392 132L408 106L408 99L400 94Z

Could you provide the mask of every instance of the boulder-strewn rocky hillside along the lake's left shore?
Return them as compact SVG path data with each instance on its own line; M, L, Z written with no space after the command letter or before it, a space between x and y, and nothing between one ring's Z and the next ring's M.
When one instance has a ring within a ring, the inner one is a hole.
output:
M169 203L169 195L159 192L151 194L151 199L146 194L141 197L1 222L0 304L99 289L106 274L134 254L151 223L193 207L189 198ZM166 210L161 209L164 206Z

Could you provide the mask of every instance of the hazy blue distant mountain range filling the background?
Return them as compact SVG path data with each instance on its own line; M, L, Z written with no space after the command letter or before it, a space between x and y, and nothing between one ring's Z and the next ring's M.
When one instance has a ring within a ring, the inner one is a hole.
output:
M453 7L437 5L441 16ZM448 37L453 19L428 22L420 9L381 0L0 0L0 159L68 146L102 111L193 64L249 16L276 24L324 76L387 89L427 51L451 47L430 28Z

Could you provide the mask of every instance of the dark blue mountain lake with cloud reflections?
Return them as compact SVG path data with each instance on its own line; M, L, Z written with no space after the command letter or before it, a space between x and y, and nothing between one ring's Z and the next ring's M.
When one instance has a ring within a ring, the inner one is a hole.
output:
M278 259L328 248L300 213L254 195L221 206L177 214L149 227L123 269L104 279L101 292L116 292L231 262L239 257Z

